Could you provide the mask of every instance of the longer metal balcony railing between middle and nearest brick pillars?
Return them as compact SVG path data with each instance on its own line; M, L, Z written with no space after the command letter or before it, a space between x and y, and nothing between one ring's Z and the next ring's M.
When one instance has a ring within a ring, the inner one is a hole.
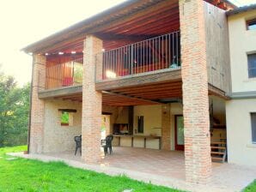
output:
M125 45L96 55L96 81L180 67L180 32Z

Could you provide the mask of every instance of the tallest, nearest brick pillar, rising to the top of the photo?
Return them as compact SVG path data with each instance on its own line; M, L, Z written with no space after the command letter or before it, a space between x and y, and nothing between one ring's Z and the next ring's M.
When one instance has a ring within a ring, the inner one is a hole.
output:
M211 159L204 1L180 0L180 32L186 181L207 183Z

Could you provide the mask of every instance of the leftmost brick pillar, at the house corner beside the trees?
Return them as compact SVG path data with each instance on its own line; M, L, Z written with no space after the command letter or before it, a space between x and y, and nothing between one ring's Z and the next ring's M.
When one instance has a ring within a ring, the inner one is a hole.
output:
M38 92L45 89L46 57L33 56L33 77L31 95L31 119L29 153L43 152L45 102L38 98Z

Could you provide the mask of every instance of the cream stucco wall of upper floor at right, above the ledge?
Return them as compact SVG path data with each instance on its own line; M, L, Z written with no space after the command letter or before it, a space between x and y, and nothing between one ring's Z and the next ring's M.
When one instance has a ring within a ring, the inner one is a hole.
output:
M232 92L256 90L256 78L249 79L247 53L256 53L256 30L247 31L246 21L256 18L252 10L229 16L229 49L231 62Z

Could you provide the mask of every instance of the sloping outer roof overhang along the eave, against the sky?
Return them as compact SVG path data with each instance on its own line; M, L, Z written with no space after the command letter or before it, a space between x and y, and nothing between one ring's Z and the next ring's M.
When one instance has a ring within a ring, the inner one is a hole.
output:
M174 0L172 0L174 1ZM176 0L178 2L178 0ZM216 0L204 0L206 2L215 3ZM22 48L21 51L42 53L49 50L52 46L66 45L67 42L81 42L86 38L87 34L97 33L101 28L107 27L108 24L114 21L122 20L123 18L139 13L143 9L156 6L158 3L169 3L169 0L128 0L124 3L120 3L111 9L107 9L100 14L94 15L86 20L80 21L75 25L72 25L64 30L53 33L45 39L42 39L34 44L27 45ZM228 3L229 7L235 5L228 0L218 0L217 2ZM215 4L217 6L217 4Z

